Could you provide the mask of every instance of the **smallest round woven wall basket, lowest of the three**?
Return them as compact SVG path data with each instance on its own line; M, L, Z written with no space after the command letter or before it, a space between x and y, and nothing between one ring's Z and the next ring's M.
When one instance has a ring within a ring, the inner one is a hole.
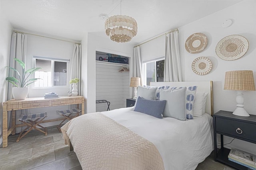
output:
M212 61L207 57L198 57L192 62L192 70L198 75L208 74L212 70Z

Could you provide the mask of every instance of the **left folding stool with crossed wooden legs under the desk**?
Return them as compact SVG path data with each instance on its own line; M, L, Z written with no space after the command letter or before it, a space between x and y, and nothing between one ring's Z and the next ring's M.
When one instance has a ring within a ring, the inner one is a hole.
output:
M47 112L36 113L36 114L31 114L31 115L20 115L20 117L18 118L17 121L21 121L22 123L26 124L27 127L22 132L20 132L20 135L19 135L16 142L20 141L20 139L22 139L32 129L36 129L36 130L44 133L45 135L47 135L46 127L43 127L43 126L39 125L39 123L41 123L44 120L44 118L46 118L46 117L47 117ZM31 119L36 119L36 120L32 121ZM40 126L40 127L44 128L44 131L42 131L41 129L38 129L36 126ZM26 131L27 129L28 129L28 131ZM24 131L26 131L26 133L24 133L22 135L22 133Z

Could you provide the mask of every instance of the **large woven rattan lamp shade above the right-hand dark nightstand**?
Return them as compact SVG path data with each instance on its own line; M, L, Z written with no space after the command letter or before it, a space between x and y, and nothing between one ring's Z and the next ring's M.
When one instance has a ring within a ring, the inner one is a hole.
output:
M255 91L253 72L251 70L226 72L224 90Z

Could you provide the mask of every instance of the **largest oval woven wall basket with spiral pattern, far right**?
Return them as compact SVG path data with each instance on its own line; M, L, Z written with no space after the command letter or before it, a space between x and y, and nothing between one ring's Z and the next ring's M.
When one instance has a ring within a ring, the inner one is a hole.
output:
M222 60L236 60L242 57L249 48L248 40L241 35L229 35L216 45L216 54Z

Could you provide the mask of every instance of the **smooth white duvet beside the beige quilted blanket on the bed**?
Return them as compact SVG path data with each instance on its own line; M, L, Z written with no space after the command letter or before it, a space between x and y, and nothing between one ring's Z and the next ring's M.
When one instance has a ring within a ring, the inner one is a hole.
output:
M204 114L187 121L156 117L133 111L134 107L102 114L152 142L160 152L165 170L194 170L213 150L212 117Z

